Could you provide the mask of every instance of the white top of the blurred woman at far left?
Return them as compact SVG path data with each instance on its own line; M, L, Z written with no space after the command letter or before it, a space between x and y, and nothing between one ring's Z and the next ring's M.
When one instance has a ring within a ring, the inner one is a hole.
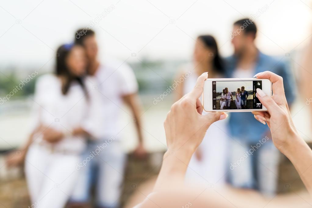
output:
M89 82L85 81L85 87L88 100L78 83L73 82L64 95L61 91L61 80L55 75L38 78L34 95L34 128L42 124L62 132L71 132L74 128L82 127L95 138L101 137L99 96ZM52 145L42 140L42 135L35 135L34 143L43 144L56 151L76 153L83 151L86 145L82 136L65 137Z

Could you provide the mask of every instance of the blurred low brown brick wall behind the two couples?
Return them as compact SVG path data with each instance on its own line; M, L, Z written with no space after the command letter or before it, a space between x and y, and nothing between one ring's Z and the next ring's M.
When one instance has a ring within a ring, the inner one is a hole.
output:
M311 147L312 143L309 143L309 146ZM120 198L123 206L139 185L157 176L161 167L163 153L150 153L147 158L142 160L136 159L132 154L128 154L127 167L124 172L123 195ZM286 192L295 193L304 189L304 185L295 167L282 154L278 178L277 192L279 194ZM9 180L0 178L0 202L2 206L7 208L19 208L31 205L27 192L27 184L23 176Z

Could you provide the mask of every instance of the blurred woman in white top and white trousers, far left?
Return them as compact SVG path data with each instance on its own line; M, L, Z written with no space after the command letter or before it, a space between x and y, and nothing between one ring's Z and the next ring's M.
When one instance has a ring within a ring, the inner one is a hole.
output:
M76 164L86 149L85 138L101 133L98 96L84 77L84 48L66 44L56 54L55 74L36 82L34 131L18 157L15 152L7 157L9 166L25 160L31 202L44 208L66 205L79 178Z

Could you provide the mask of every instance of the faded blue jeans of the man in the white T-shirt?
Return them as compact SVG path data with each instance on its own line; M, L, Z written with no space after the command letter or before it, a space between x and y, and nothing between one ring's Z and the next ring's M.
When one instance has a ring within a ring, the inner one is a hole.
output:
M120 141L114 140L109 144L105 140L90 142L77 164L80 178L70 201L88 202L91 185L95 184L97 206L119 207L125 162L126 155L120 147Z

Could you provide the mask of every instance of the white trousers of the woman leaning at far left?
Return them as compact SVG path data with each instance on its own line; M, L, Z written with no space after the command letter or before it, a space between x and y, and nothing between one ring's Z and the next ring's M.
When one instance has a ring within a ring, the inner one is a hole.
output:
M64 207L77 183L79 155L52 153L32 145L25 159L25 175L32 205L37 208Z

